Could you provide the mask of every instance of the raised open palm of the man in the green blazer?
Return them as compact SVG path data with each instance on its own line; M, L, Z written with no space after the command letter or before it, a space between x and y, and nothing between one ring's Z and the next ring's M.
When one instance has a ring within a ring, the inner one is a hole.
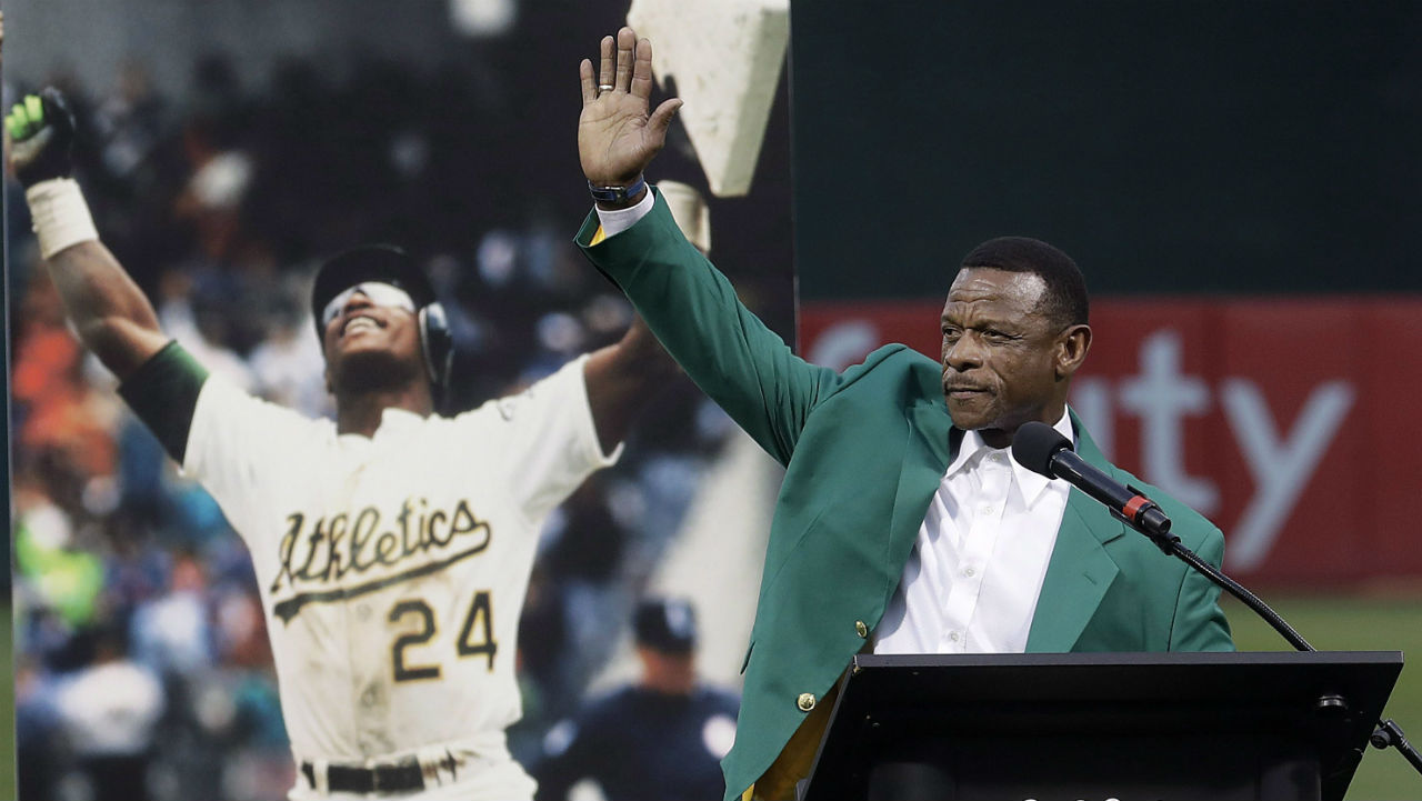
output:
M667 141L681 100L663 101L647 114L651 97L651 41L631 28L603 37L597 75L587 58L579 64L583 114L577 118L577 155L583 175L597 186L630 186Z

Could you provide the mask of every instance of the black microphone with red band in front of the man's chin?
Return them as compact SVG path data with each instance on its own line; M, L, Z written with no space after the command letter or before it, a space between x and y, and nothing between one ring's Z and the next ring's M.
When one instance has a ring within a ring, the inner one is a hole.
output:
M1155 501L1086 464L1071 448L1071 440L1045 423L1027 423L1017 430L1012 435L1012 458L1047 478L1066 479L1152 539L1165 538L1170 531L1170 518Z

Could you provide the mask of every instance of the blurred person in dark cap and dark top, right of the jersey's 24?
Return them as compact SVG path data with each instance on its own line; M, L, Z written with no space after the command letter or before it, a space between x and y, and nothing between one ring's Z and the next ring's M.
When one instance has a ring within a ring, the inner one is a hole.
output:
M739 700L697 681L690 603L648 599L633 629L641 677L555 726L533 767L538 801L562 801L593 780L609 801L714 800L721 757L735 740Z

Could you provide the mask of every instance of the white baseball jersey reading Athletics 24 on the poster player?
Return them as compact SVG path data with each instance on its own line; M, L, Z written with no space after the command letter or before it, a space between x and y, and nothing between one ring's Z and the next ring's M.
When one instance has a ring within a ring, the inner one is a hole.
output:
M183 470L252 552L297 764L455 744L532 788L503 728L522 714L538 534L619 455L599 445L584 361L452 418L385 410L370 438L203 384Z

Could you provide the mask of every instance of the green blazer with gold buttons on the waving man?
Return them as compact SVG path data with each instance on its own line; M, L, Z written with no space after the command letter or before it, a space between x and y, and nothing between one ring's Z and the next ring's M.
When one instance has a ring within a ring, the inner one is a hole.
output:
M616 282L688 376L785 465L745 653L727 800L771 765L806 711L865 647L899 585L961 431L939 364L882 347L843 373L809 364L735 296L681 236L663 199L584 253ZM927 323L926 323L927 324ZM1076 451L1142 487L1172 531L1220 563L1209 521L1106 462L1072 417ZM1028 652L1233 650L1219 589L1072 489L1028 633Z

